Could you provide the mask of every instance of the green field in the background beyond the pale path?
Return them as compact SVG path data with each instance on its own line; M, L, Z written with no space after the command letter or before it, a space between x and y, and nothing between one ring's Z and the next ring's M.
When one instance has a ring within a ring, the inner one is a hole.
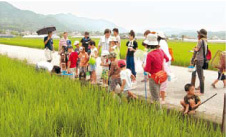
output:
M72 38L72 42L75 40L80 40L78 38ZM94 39L96 44L98 44L99 40ZM127 47L126 47L127 40L122 40L122 47L121 47L121 57L125 58ZM31 48L40 48L43 49L43 40L42 39L29 39L29 38L0 38L0 43L8 44L8 45L18 45L18 46L25 46ZM144 49L142 46L142 40L138 40L138 48ZM59 40L54 39L54 48L58 50ZM190 59L192 57L192 53L188 52L192 50L195 46L195 42L181 42L181 41L168 41L169 47L173 49L175 61L172 62L173 65L177 66L184 66L187 67L190 64ZM216 53L217 50L226 50L225 43L208 43L209 48L212 52L212 56ZM210 66L210 69L213 69Z

